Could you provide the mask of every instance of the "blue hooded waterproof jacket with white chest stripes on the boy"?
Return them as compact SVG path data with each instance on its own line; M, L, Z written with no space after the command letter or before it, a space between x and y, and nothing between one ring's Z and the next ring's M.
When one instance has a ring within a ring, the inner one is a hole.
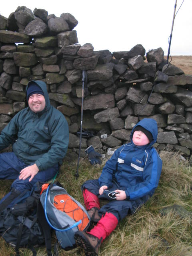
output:
M144 146L136 146L132 141L133 130L142 126L153 136L152 142ZM158 186L162 170L162 160L155 148L158 129L154 119L144 118L134 126L130 138L131 143L118 148L106 162L99 178L100 186L108 188L115 178L119 189L126 192L127 199L137 200L144 196L152 196Z

